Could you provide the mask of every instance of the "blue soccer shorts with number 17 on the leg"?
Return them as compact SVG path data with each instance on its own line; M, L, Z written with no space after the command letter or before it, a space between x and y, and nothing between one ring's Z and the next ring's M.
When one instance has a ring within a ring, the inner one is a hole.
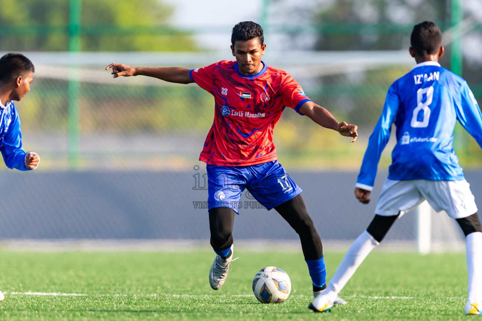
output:
M247 189L268 210L302 192L277 160L251 166L207 165L208 209L229 207L239 214Z

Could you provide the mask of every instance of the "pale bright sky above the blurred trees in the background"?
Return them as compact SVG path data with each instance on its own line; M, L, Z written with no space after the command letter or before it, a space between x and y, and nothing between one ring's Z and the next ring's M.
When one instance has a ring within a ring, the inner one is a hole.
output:
M199 48L210 51L226 52L231 56L229 48L231 28L240 21L260 20L262 0L162 0L174 8L171 17L173 25L181 28L206 30L197 34L194 39ZM411 0L420 2L423 0ZM333 0L271 0L269 8L270 23L306 23L310 21L310 14L317 9L330 5ZM464 12L482 19L482 0L464 0ZM367 6L368 8L368 6ZM397 22L403 22L406 17L399 14ZM283 50L286 46L297 50L310 50L316 42L313 35L302 34L296 37L289 35L265 35L269 51ZM482 37L480 34L466 35L463 39L464 57L469 62L482 61ZM227 59L229 59L227 57Z

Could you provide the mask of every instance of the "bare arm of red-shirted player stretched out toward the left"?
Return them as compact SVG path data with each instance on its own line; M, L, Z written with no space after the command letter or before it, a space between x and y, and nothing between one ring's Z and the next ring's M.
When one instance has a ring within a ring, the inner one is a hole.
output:
M119 76L129 77L142 75L177 84L190 84L194 82L191 77L189 77L190 69L181 67L147 68L131 67L127 64L109 64L106 67L106 70L109 70L110 68L112 68L111 75L114 75L114 78Z

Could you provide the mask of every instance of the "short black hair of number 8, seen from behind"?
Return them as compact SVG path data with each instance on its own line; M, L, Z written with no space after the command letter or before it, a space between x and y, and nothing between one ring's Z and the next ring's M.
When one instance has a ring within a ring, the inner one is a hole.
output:
M410 45L421 56L435 54L442 46L442 32L431 21L419 23L412 30Z

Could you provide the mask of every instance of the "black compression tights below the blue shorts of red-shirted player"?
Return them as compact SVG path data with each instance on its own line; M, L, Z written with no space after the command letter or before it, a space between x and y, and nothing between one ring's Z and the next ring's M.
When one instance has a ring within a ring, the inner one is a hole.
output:
M275 207L288 224L298 233L303 254L307 260L317 260L323 256L320 235L309 217L301 195ZM236 212L228 207L215 207L209 211L209 229L211 246L215 251L222 251L233 244L233 223Z

